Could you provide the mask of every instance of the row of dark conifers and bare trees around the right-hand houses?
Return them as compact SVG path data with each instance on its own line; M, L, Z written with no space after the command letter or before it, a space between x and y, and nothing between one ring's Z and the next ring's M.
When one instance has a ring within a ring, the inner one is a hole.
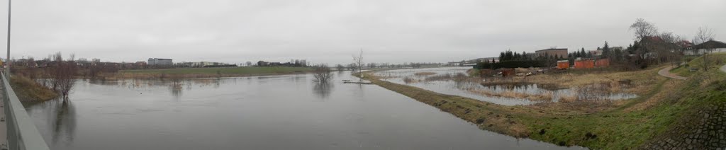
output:
M636 22L629 26L629 29L633 31L635 41L627 46L627 49L612 49L608 45L608 42L605 41L602 48L597 48L597 50L601 51L601 54L592 54L590 51L585 51L584 48L576 49L568 53L568 61L573 64L574 60L578 57L610 59L611 65L632 70L643 69L650 64L662 64L666 62L680 64L686 51L690 50L690 42L685 40L685 36L678 36L668 31L658 32L656 25L645 21L643 18L638 18ZM693 44L711 41L713 37L714 34L711 29L706 27L698 28L698 32L693 38ZM701 49L706 49L703 52L703 69L708 70L708 66L711 63L708 53L713 51L713 48L703 47ZM564 58L547 55L537 57L534 54L528 54L524 51L517 53L507 50L499 54L499 62L494 62L494 60L491 62L481 62L476 68L497 69L499 67L554 66L556 60L561 59ZM542 65L542 63L550 65Z

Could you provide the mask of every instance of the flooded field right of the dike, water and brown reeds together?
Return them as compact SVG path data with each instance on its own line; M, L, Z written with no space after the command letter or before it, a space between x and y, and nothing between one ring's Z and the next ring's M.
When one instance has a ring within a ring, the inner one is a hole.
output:
M592 101L631 99L635 94L610 91L612 86L592 83L576 88L563 88L537 83L487 83L486 78L469 78L471 67L439 67L407 70L386 70L375 75L392 83L424 88L449 95L465 96L503 105L528 105L568 99ZM489 79L491 80L491 79ZM618 86L620 87L620 86ZM625 86L623 86L625 87Z

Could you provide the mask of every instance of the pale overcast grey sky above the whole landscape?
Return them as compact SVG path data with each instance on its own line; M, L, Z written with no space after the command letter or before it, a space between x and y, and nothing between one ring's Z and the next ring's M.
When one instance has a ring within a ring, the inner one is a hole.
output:
M7 20L7 1L0 7ZM347 64L362 48L367 62L448 62L506 49L627 46L637 17L689 39L707 25L726 41L725 7L722 0L16 0L11 54Z

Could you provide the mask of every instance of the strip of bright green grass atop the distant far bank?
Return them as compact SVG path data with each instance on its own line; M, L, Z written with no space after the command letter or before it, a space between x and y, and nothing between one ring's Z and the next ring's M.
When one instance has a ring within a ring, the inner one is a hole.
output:
M178 74L239 74L239 75L262 75L262 74L285 74L295 72L310 72L310 67L201 67L201 68L174 68L162 70L121 70L121 73L142 73L169 75Z

